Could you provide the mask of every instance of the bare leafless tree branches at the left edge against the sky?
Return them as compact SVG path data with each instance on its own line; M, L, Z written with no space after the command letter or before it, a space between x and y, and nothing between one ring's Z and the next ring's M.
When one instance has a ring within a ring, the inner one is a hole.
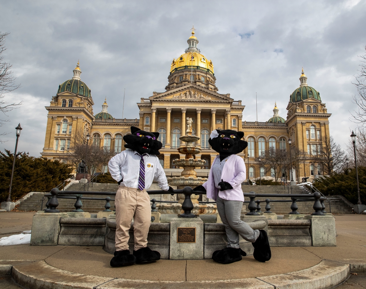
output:
M9 103L5 101L5 93L11 92L15 89L17 89L20 84L16 85L15 77L12 76L12 71L10 70L12 65L9 63L6 63L4 61L4 56L2 56L3 52L6 50L5 48L5 38L8 36L9 33L1 33L0 31L0 111L4 114L5 118L0 118L0 127L4 125L4 122L9 121L7 119L7 112L17 108L22 103ZM0 135L6 135L6 132L0 133ZM0 143L2 143L0 139Z

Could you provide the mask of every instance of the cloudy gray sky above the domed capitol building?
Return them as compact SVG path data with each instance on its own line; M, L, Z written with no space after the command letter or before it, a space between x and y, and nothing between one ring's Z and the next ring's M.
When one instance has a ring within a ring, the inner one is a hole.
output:
M307 83L320 92L330 133L346 146L355 109L352 81L365 54L366 1L1 1L0 31L7 37L4 60L21 87L7 94L22 101L0 128L0 150L40 156L47 111L60 83L80 59L81 79L91 89L94 113L105 97L108 112L138 118L136 102L163 92L173 58L184 53L192 25L198 48L214 64L219 93L246 105L243 121L273 115L277 101L286 118L290 94ZM0 117L4 118L4 116Z

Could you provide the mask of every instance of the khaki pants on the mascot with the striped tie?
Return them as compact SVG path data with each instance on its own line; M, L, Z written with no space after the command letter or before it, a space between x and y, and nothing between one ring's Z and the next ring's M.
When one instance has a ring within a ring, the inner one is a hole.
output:
M128 250L132 218L134 219L135 247L146 247L151 223L150 197L146 190L119 186L116 198L116 251Z

